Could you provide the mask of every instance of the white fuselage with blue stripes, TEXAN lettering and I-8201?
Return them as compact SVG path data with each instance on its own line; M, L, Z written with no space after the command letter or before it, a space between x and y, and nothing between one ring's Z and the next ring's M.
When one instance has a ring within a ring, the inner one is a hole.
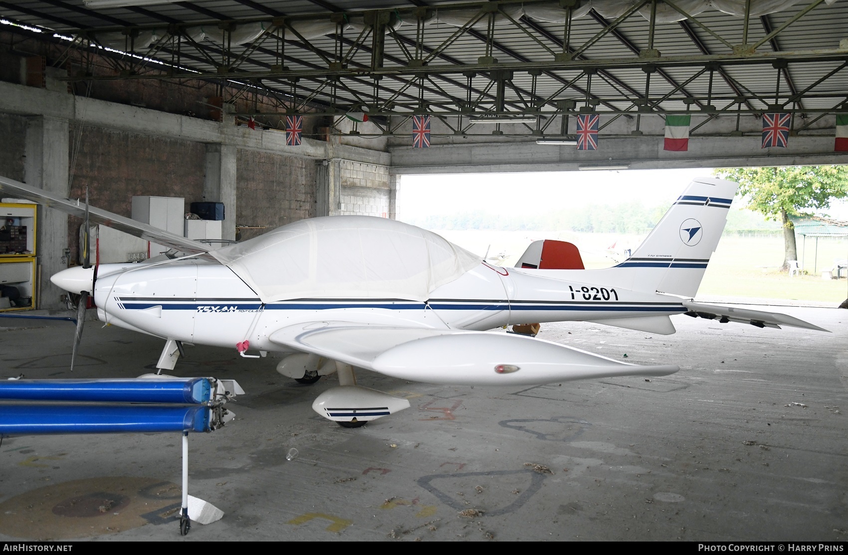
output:
M306 298L264 304L220 264L193 260L160 265L103 264L94 299L98 317L153 336L217 347L249 340L280 351L274 331L322 320L456 330L568 320L681 314L676 297L588 283L596 270L511 269L479 264L432 291L427 301L393 298ZM546 272L548 275L545 275ZM563 279L574 276L574 280ZM603 274L599 274L603 275ZM579 278L583 278L580 280Z

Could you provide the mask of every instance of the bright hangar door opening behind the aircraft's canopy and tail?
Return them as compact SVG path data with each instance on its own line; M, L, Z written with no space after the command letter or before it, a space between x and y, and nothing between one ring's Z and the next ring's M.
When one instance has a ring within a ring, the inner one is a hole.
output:
M609 268L639 247L691 180L714 175L712 168L404 175L397 218L435 231L489 264L515 266L531 242L555 239L576 245L586 269ZM834 227L834 233L816 238L801 235L811 228L798 222L801 271L790 274L782 268L782 225L753 208L749 198L734 198L699 298L826 306L843 301L848 227L841 228L843 235ZM848 203L834 199L817 214L848 221ZM824 270L830 271L828 279Z

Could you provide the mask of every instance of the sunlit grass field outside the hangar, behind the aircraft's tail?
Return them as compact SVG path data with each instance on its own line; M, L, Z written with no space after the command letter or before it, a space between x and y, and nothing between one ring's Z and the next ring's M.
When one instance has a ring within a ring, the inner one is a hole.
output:
M607 268L622 260L624 248L635 248L644 236L622 236L571 231L488 231L436 230L445 239L465 247L472 253L493 257L505 255L499 264L514 265L531 241L560 239L580 248L583 264L588 269ZM613 244L615 248L610 249ZM802 238L798 237L798 258L802 257ZM723 236L718 243L700 284L699 296L760 297L792 301L833 302L834 306L848 298L848 280L822 280L821 271L831 269L834 260L848 258L848 239L818 240L817 273L814 275L815 240L806 240L804 265L808 275L789 277L778 272L784 261L781 236ZM843 271L843 275L845 272Z

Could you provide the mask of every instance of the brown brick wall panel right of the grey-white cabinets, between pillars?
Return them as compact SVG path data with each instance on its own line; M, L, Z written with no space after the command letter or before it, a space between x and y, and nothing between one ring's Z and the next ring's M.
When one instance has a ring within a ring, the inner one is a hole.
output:
M319 162L320 163L320 162ZM315 216L315 160L239 149L236 225L242 240Z

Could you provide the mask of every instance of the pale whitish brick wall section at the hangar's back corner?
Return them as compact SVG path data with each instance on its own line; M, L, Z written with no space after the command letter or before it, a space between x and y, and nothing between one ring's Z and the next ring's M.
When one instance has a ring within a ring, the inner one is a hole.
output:
M388 168L342 160L339 214L389 217Z

